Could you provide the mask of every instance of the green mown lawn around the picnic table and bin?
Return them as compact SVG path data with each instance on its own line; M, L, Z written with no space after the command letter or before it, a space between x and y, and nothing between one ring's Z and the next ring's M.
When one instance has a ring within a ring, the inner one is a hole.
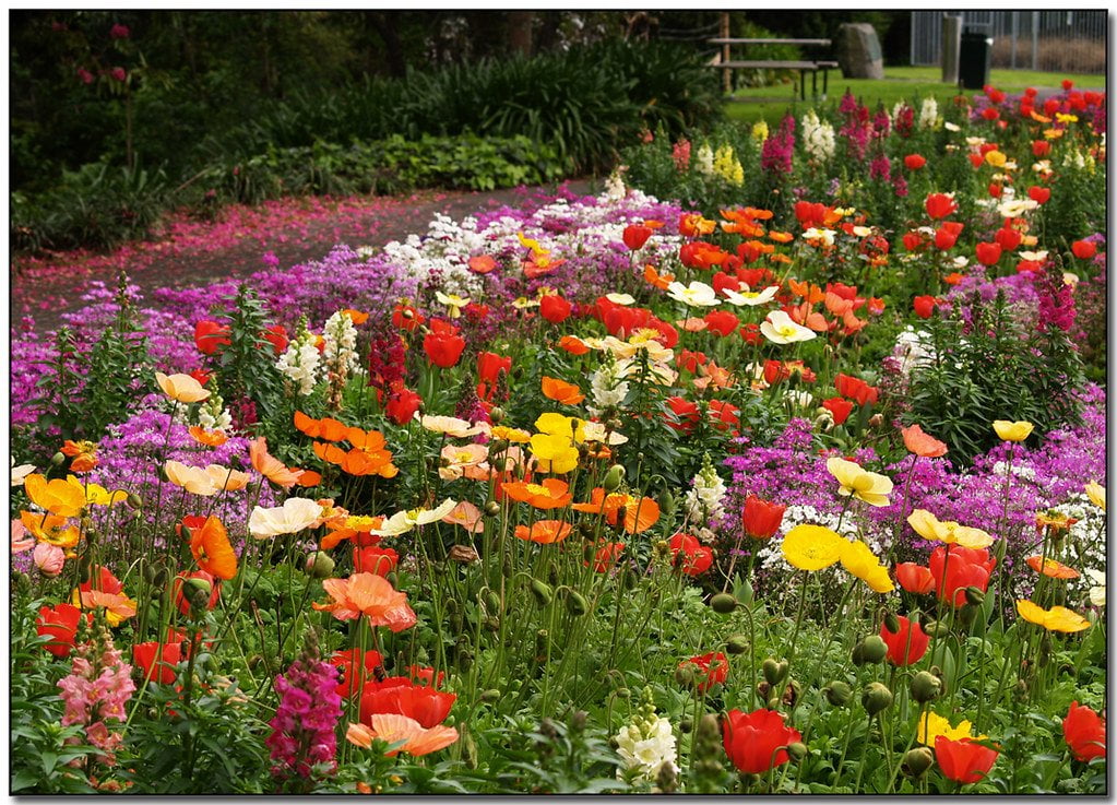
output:
M840 70L833 70L830 75L828 100L841 97L848 88L869 108L876 108L877 104L884 104L886 108L891 108L898 101L910 102L916 97L925 98L929 95L934 95L942 103L954 97L957 94L957 88L953 84L943 84L939 80L941 76L942 70L938 67L888 67L885 69L884 79L842 78ZM1083 88L1105 88L1106 86L1104 75L1010 69L992 70L990 83L1000 89L1019 92L1029 86L1057 88L1065 78L1070 78L1076 86ZM810 78L808 78L808 84L810 84ZM819 85L821 86L821 84L820 78ZM804 108L813 105L810 97L805 102L800 101L798 92L798 79L795 83L774 86L745 87L738 89L735 100L726 104L725 113L729 120L743 123L755 123L760 120L767 121L770 125L779 123L789 110L798 116Z

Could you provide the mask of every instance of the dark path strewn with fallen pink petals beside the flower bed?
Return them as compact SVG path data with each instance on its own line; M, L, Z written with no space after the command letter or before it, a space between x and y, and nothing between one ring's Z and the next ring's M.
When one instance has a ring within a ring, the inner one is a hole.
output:
M567 187L574 193L591 191L586 180L571 181ZM85 304L80 297L92 282L113 286L122 268L144 299L150 299L159 287L248 276L268 265L287 268L323 257L336 244L383 246L426 233L436 214L460 219L515 207L541 189L285 199L260 208L228 208L213 224L176 218L161 238L125 244L111 254L50 254L13 262L11 321L17 324L21 316L31 316L39 332L54 330L63 313Z

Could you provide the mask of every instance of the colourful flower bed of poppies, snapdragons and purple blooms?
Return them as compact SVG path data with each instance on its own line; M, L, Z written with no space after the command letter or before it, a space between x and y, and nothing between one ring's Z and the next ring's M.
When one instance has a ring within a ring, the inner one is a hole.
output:
M1104 792L1105 98L1029 97L16 333L12 788Z

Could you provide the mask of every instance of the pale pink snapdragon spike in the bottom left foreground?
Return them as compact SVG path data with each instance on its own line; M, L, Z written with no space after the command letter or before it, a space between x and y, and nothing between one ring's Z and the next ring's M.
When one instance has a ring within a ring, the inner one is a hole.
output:
M58 686L66 704L63 726L85 726L86 740L102 751L97 759L115 764L115 750L124 735L114 732L106 721L127 719L124 705L136 688L132 682L132 666L121 657L112 636L104 634L99 641L78 645L70 674L60 680Z

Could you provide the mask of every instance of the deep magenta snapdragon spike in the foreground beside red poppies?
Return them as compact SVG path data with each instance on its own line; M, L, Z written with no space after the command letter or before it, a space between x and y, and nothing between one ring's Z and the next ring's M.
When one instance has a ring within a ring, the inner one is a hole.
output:
M303 656L287 674L276 676L279 707L268 721L274 730L265 741L271 750L271 774L279 778L296 774L307 778L317 764L335 765L337 737L334 727L342 714L337 694L337 669Z

